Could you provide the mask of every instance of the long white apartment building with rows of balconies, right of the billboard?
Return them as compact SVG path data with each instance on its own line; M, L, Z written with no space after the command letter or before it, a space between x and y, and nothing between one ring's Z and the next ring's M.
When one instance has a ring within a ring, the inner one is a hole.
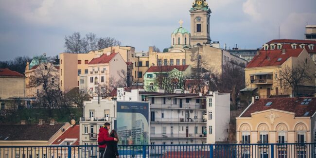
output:
M150 144L206 144L227 141L230 94L131 92L118 88L118 101L149 102Z

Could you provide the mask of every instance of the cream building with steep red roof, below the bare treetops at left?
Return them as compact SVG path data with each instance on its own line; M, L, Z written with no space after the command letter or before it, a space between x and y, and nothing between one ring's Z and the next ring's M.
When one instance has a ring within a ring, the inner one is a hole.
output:
M122 80L122 70L127 72L127 65L120 53L105 53L93 58L84 74L78 72L79 90L90 91L92 96L98 96L96 93L110 86L110 82Z

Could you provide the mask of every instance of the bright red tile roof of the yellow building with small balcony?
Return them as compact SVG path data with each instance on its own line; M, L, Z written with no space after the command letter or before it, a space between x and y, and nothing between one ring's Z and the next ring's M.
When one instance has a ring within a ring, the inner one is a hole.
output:
M260 50L260 54L254 56L246 68L282 65L288 58L298 57L303 51L303 49L297 48L298 49L292 49L290 45L284 45L283 49L286 51L285 54L282 54L282 50ZM279 58L281 58L281 61L278 61Z

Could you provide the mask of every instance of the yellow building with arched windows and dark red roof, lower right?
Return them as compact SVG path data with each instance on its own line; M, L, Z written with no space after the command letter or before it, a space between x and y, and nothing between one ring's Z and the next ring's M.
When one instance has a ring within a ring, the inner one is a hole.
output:
M267 98L253 102L236 118L237 143L313 143L316 131L315 105L316 98ZM253 152L270 154L264 153L264 147L255 145L247 150L249 155L254 155ZM307 158L309 153L306 146L295 151L283 147L281 151L276 153L279 154L278 158L286 158L280 157L280 154L304 155L296 158Z

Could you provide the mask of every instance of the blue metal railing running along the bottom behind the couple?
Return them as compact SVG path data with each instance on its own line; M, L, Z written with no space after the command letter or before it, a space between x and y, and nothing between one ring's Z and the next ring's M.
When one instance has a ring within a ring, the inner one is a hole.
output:
M119 145L120 158L316 158L316 143ZM0 158L99 158L96 145L0 146Z

